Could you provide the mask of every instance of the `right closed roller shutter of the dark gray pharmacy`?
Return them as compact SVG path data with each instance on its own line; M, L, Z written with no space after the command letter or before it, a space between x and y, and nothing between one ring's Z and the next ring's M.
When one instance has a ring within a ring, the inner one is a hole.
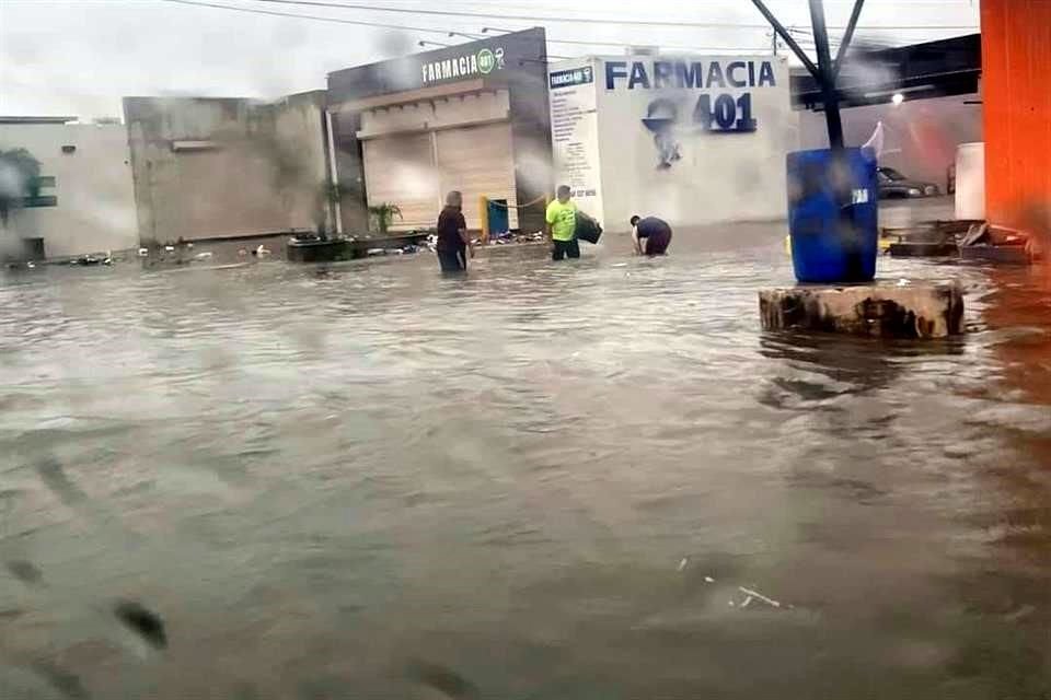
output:
M463 215L469 229L481 229L480 199L506 199L510 225L518 228L515 209L515 154L511 125L488 124L437 131L438 172L442 196L452 189L463 192Z

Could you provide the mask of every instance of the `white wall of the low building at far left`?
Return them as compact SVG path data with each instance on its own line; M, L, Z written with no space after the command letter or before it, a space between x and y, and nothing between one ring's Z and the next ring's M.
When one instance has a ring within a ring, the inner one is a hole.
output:
M76 150L63 153L63 145ZM138 247L123 125L0 125L0 150L14 148L39 161L42 177L55 178L41 195L58 198L55 207L18 211L9 224L16 235L44 238L49 258Z

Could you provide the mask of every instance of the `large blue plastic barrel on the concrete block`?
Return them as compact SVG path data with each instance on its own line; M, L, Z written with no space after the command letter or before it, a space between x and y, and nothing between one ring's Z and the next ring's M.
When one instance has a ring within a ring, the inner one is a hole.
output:
M848 284L876 277L879 252L876 155L845 149L788 154L788 232L800 282Z

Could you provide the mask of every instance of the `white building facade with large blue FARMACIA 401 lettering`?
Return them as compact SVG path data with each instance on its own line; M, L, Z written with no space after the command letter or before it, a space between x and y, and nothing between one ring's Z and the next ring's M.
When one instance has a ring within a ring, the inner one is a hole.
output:
M619 56L553 63L554 179L611 231L783 219L798 148L788 67L774 56Z

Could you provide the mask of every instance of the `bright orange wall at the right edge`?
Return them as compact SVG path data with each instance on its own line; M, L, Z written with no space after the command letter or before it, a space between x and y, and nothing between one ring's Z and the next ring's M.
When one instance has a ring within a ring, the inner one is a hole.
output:
M1029 229L1051 203L1051 0L981 1L986 215Z

